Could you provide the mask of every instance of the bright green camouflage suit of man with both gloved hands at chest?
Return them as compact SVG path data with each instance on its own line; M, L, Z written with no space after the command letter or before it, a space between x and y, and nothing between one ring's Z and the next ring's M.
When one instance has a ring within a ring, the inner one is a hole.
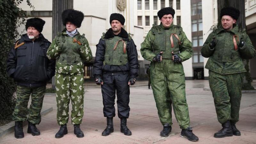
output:
M173 37L174 47L171 47L170 36L175 33L179 41ZM185 94L185 75L182 63L174 63L172 51L182 61L192 56L192 44L186 37L180 26L171 25L169 28L158 25L151 28L144 42L141 44L140 52L150 63L150 80L156 101L158 116L162 124L172 124L172 106L174 115L180 128L189 127L188 105ZM154 62L153 58L160 52L162 62ZM180 52L180 53L179 53Z

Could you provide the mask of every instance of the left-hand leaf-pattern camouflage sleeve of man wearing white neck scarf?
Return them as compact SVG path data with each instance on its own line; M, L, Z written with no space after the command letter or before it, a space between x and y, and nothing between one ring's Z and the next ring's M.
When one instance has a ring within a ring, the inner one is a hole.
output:
M52 44L48 48L46 55L49 60L54 60L59 56L60 52L61 52L61 47L58 45L55 37L52 41Z

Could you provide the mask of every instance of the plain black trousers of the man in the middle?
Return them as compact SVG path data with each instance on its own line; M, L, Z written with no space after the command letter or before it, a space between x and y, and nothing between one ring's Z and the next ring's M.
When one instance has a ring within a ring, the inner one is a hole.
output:
M115 98L117 96L117 110L119 118L128 118L130 107L130 86L128 73L103 73L102 79L104 84L101 85L103 98L103 114L105 117L114 117Z

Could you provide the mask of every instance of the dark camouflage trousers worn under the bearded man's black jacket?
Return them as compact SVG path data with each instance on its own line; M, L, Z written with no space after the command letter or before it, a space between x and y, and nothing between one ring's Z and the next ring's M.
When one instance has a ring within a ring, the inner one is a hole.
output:
M32 124L39 124L41 122L41 109L43 106L45 86L30 88L25 86L17 86L17 102L12 113L12 120L25 121ZM28 100L31 95L31 105L28 108Z

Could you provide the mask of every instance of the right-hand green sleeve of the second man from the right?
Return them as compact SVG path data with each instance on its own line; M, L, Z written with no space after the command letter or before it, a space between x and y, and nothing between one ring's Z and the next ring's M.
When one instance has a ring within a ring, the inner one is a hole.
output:
M180 34L180 54L182 61L188 60L192 57L192 43L188 40L186 34L182 31Z

